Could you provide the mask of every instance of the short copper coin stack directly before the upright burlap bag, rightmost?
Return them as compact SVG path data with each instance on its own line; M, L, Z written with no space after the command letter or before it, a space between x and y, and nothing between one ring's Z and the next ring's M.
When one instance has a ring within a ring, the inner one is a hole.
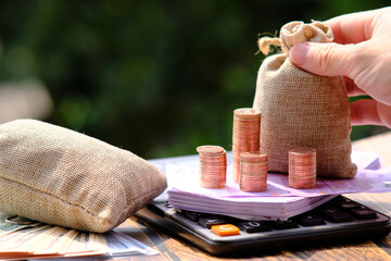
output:
M316 187L316 149L298 148L289 151L289 186Z

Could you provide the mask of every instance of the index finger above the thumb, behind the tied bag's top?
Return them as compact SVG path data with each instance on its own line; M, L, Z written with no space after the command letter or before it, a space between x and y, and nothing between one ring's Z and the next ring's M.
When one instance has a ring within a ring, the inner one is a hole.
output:
M369 40L374 33L376 20L384 10L373 10L358 13L350 13L325 21L335 35L337 44L357 44Z

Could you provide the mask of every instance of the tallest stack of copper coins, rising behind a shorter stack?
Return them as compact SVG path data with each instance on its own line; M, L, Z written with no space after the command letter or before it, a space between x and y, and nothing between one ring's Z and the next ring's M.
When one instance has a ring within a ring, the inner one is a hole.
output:
M239 183L240 153L260 150L261 112L250 108L234 111L232 175Z

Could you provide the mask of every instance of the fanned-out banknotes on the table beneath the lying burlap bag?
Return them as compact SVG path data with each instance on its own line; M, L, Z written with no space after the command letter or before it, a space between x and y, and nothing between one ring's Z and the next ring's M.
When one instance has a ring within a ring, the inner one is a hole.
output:
M67 260L76 257L156 254L152 248L121 232L79 232L22 216L0 213L0 259Z

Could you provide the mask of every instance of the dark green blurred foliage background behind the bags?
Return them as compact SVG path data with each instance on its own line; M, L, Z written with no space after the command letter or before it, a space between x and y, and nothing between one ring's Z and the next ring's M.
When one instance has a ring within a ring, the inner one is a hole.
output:
M0 2L0 122L40 119L143 158L231 149L252 107L258 34L387 0ZM387 130L354 127L352 139Z

